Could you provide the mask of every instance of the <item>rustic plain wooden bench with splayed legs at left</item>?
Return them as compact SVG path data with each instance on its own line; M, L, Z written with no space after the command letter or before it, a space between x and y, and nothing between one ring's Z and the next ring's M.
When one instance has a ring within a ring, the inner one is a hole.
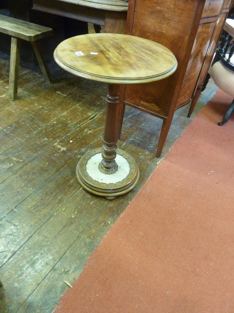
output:
M11 36L11 59L10 59L10 78L9 78L9 98L17 99L20 46L21 40L30 41L36 54L41 71L48 83L52 82L51 74L44 54L39 43L39 39L49 37L53 31L51 28L29 23L0 14L0 32Z

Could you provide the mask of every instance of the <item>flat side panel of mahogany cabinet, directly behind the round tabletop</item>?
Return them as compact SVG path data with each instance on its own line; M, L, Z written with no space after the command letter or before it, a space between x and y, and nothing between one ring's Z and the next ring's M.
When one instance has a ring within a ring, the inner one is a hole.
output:
M131 3L129 2L129 5ZM166 119L175 106L187 68L205 1L136 0L128 13L128 34L147 38L170 49L178 68L170 77L150 84L127 85L124 102ZM129 27L131 23L131 27ZM178 87L179 86L179 87Z

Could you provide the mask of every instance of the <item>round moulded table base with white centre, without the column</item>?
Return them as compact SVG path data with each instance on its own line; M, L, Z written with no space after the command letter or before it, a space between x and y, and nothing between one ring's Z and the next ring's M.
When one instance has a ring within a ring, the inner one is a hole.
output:
M139 168L127 152L117 149L117 172L104 174L98 167L102 160L102 148L86 152L76 167L76 177L86 190L113 200L116 196L132 190L139 181Z

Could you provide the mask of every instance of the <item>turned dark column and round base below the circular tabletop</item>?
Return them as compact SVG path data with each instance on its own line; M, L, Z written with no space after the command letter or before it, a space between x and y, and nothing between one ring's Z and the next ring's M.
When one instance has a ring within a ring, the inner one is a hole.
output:
M81 157L76 177L86 190L113 200L132 190L140 173L133 157L117 149L119 85L108 84L107 90L103 145Z

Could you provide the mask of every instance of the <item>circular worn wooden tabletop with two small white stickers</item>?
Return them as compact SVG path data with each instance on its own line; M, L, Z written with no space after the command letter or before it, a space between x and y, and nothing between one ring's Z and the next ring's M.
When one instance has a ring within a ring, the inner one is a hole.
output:
M161 80L177 68L173 53L161 44L113 33L68 38L57 46L54 58L72 74L116 84Z

